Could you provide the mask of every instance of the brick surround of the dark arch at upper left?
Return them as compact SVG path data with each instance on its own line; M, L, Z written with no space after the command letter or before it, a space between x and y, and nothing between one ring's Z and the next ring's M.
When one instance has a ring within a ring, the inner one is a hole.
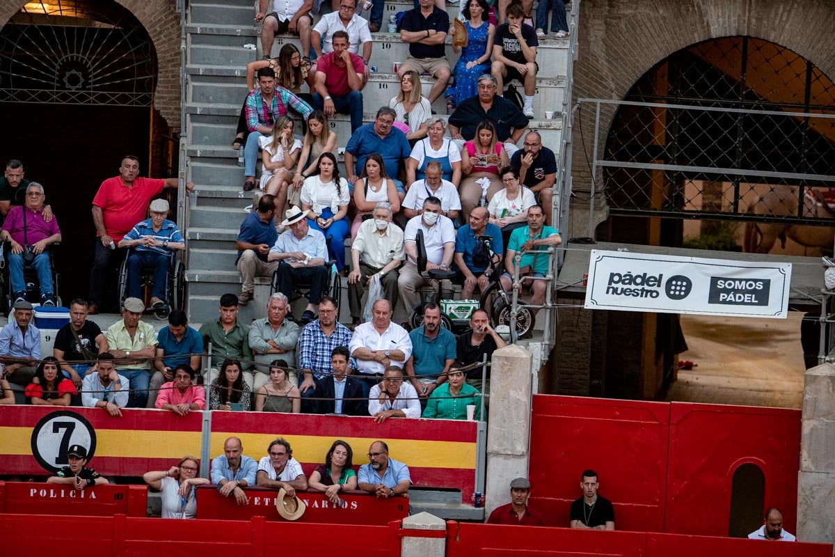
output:
M0 25L27 0L0 3ZM180 129L180 16L174 0L119 0L144 25L156 51L158 76L154 108L171 128Z

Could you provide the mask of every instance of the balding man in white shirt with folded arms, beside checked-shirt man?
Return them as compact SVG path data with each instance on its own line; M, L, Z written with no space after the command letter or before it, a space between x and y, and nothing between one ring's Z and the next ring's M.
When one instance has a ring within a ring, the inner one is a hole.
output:
M389 366L403 367L412 356L412 339L406 329L392 323L392 304L377 300L372 308L371 322L354 330L351 355L357 360L357 379L362 381L362 396L367 397Z

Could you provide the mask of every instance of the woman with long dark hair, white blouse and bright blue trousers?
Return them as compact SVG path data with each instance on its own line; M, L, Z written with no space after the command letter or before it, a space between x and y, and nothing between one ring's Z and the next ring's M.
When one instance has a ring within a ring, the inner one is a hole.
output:
M315 174L309 176L301 186L301 209L307 213L307 224L319 230L331 241L333 258L337 270L345 268L345 236L348 235L348 193L347 180L339 175L337 157L333 153L322 153Z

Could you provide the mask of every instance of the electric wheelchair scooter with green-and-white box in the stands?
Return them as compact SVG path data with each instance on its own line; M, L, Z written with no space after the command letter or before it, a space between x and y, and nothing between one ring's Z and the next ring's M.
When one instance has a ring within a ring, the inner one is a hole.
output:
M511 331L515 329L515 336L513 336L512 333L512 338L514 340L525 337L534 328L534 313L527 307L520 307L519 311L516 313L515 327L510 327L513 297L511 293L502 290L501 283L498 281L503 271L502 258L501 256L493 253L493 250L490 249L490 238L488 236L482 236L482 240L487 245L490 253L490 275L488 277L489 284L481 293L481 297L478 299L478 309L487 311L488 316L490 316L490 321L493 323L493 327L507 325ZM426 245L423 239L423 230L417 231L415 244L417 248L417 271L425 278L437 280L438 291L429 293L425 296L423 303L412 308L412 312L409 314L409 327L416 329L417 327L423 325L423 306L429 301L434 301L438 303L438 306L441 306L441 327L445 327L453 332L462 332L464 329L469 327L469 320L470 316L472 316L472 311L470 311L466 316L458 317L449 316L445 313L443 311L443 302L453 301L453 293L443 291L443 288L441 287L442 280L452 280L458 273L456 271L447 271L443 269L426 270L427 256Z

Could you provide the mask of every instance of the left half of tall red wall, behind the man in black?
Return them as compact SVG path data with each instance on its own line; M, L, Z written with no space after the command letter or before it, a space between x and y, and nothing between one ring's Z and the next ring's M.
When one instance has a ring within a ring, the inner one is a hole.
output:
M594 468L617 529L664 531L669 427L667 403L534 396L532 504L549 526L568 526L579 475Z

